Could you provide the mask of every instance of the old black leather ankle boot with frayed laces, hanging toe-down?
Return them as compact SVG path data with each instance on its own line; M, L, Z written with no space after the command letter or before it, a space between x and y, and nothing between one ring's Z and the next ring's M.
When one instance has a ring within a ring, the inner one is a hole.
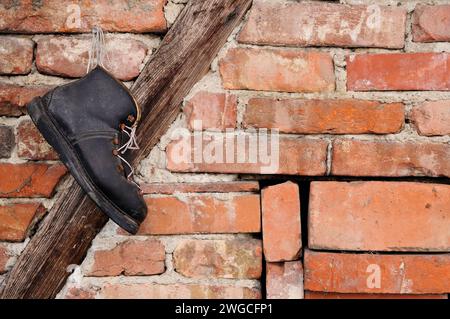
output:
M147 214L126 152L136 148L140 109L128 89L103 67L57 87L28 114L74 178L114 222L135 234Z

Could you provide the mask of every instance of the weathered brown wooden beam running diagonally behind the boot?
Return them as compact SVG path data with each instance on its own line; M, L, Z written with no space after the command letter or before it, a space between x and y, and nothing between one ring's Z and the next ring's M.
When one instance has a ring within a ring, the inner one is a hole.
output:
M251 0L190 0L132 87L143 106L138 139L145 158L179 113L183 98L207 72ZM53 298L107 222L69 177L7 278L2 298Z

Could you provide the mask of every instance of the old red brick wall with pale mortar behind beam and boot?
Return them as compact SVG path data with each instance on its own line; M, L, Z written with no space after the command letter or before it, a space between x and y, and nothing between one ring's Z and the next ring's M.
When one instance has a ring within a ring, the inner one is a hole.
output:
M183 2L0 4L0 281L66 174L24 105L84 74L95 24L131 85ZM58 297L447 298L449 25L448 0L255 0L138 168L139 233L109 222ZM269 170L178 160L257 129Z

